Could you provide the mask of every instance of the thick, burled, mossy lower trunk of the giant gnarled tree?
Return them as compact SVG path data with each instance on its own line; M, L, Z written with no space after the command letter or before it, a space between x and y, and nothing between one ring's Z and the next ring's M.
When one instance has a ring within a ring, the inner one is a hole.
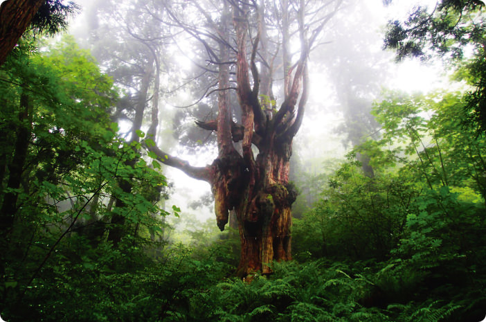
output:
M247 163L233 152L215 160L212 182L217 225L223 230L228 211L236 212L241 240L241 276L271 272L272 260L291 259L291 204L296 190L289 184L290 145L267 142L268 152ZM262 147L262 146L261 146Z

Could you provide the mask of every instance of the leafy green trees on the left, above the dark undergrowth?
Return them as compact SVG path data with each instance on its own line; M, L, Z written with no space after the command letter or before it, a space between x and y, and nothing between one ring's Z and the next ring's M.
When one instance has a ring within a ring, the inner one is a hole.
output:
M75 267L79 258L96 256L98 247L111 253L105 234L111 217L132 223L126 254L149 240L150 232L161 232L151 214L165 215L147 196L165 180L116 136L108 111L117 93L93 57L73 39L42 57L30 48L10 55L0 72L1 133L10 134L0 153L1 310L12 321L44 316L50 295L35 310L28 307L39 296L33 289L57 283L53 266ZM118 184L127 177L136 181L130 193ZM113 197L125 206L111 209Z

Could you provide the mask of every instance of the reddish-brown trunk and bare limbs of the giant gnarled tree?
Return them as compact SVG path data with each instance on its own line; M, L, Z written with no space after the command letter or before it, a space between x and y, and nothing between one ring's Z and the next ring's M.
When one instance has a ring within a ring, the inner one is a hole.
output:
M179 168L190 177L210 183L215 196L215 213L219 229L224 229L229 213L235 213L242 248L238 267L240 276L246 276L253 271L269 274L270 262L291 259L291 204L296 199L296 190L289 184L291 146L302 123L307 102L309 47L322 28L319 26L317 31L314 30L307 41L306 26L303 22L305 3L301 0L298 5L302 10L298 10L298 17L293 18L301 42L300 57L294 66L290 66L290 32L287 26L290 24L290 15L285 6L287 1L284 2L281 12L284 17L281 30L283 39L280 41L283 42L285 96L280 109L276 111L272 78L273 60L278 50L273 51L273 55L268 50L269 41L263 19L265 10L256 6L255 1L251 2L253 4L244 1L224 3L220 26L205 15L208 25L215 29L214 35L220 39L217 60L219 114L216 120L196 122L203 129L217 132L217 159L209 166L196 168L164 153L158 147L150 147L150 150L166 165ZM233 11L234 35L231 39L228 34L228 3L231 3ZM261 3L263 6L264 1ZM336 3L339 5L341 1L336 0ZM204 15L203 8L197 8ZM325 16L325 19L332 15L334 13ZM253 21L256 21L257 28L255 24L250 26L249 17L256 17ZM183 28L181 21L177 20L177 24ZM257 35L248 39L251 28L257 30ZM188 33L192 35L193 30L190 29ZM232 47L230 51L228 44L234 42L236 48ZM203 44L207 48L207 43ZM231 119L229 93L225 90L230 88L229 83L233 77L230 73L233 70L227 63L231 61L229 54L232 51L236 53L233 81L237 83L242 124L235 124ZM215 55L214 51L210 53ZM257 68L257 60L260 62L260 69ZM241 154L235 150L232 141L242 142ZM255 147L258 148L256 159Z

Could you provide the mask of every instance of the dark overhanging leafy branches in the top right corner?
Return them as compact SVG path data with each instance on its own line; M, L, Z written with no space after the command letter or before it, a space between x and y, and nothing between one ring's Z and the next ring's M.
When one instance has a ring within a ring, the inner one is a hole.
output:
M465 107L469 125L484 131L485 105L485 3L479 0L438 1L431 10L417 6L406 21L390 21L385 48L404 57L427 59L433 54L460 64L462 78L472 86ZM465 57L465 51L471 51Z

